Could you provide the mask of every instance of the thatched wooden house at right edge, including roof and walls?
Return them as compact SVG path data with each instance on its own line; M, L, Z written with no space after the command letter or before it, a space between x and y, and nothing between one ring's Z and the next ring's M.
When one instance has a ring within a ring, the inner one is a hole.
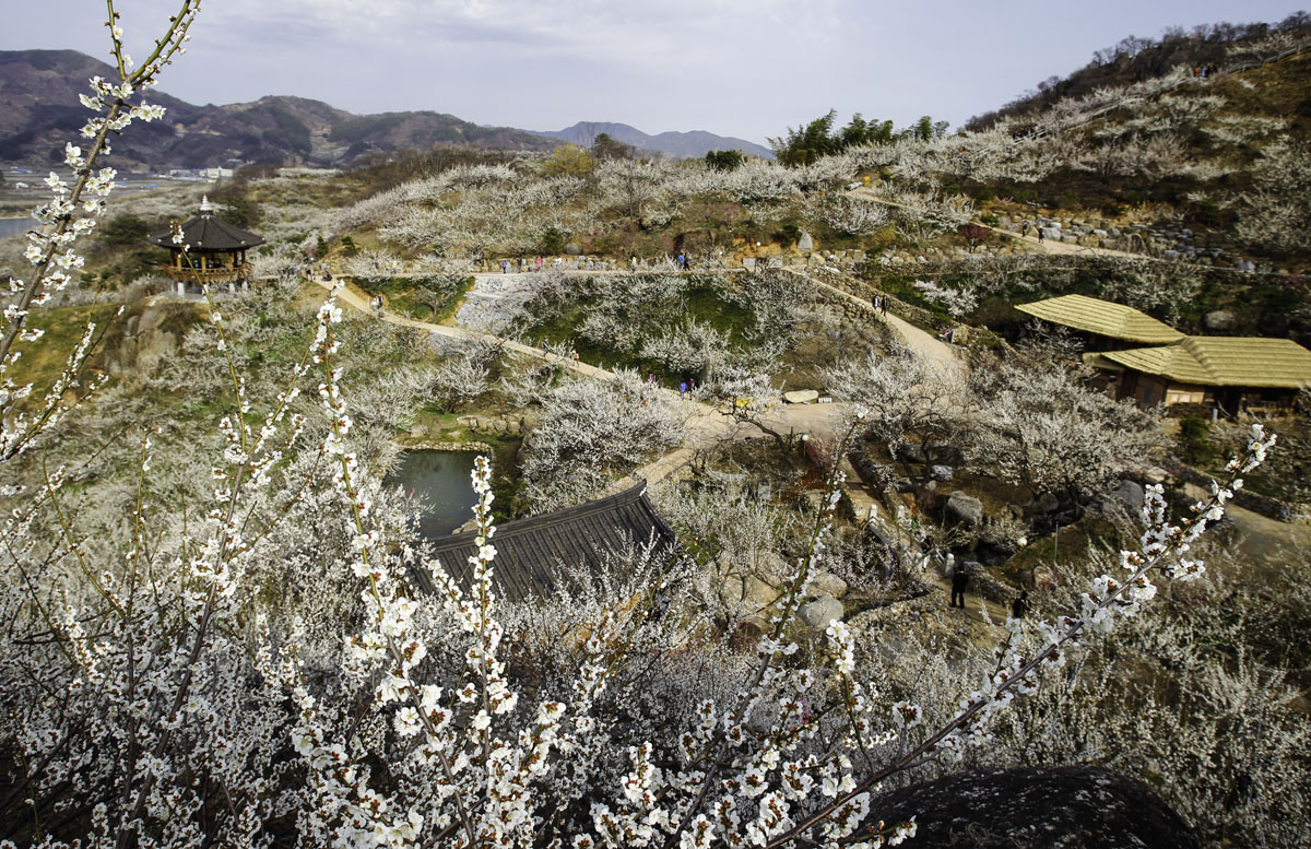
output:
M1311 385L1311 351L1293 339L1184 337L1173 345L1087 358L1118 372L1117 398L1139 406L1207 405L1223 415L1278 411Z

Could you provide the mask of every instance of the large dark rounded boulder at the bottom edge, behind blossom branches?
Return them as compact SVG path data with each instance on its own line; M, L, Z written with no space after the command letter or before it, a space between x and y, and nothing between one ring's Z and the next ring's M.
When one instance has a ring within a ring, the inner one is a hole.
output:
M911 816L903 849L1198 849L1147 785L1100 766L965 772L869 806L869 824Z

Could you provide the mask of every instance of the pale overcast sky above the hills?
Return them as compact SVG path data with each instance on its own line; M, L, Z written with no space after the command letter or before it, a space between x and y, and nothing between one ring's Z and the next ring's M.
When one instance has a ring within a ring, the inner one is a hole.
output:
M177 0L117 0L147 54ZM1125 35L1280 21L1306 0L206 0L161 89L298 94L560 130L617 121L764 143L835 107L958 126ZM106 58L100 0L0 0L0 48Z

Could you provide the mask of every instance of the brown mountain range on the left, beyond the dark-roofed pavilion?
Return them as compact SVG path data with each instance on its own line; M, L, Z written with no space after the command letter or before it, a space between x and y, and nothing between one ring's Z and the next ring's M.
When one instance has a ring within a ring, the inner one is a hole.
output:
M77 100L110 66L72 50L0 51L0 161L62 162L63 147L90 113ZM303 97L194 106L163 92L148 100L164 121L132 127L114 143L114 161L149 169L245 162L341 165L372 151L468 144L548 151L555 143L511 127L480 127L433 111L353 115Z

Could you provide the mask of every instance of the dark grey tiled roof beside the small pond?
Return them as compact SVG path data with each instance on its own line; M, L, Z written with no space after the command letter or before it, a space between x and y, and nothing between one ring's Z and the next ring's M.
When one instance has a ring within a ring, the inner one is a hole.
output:
M477 531L435 540L435 559L461 586L468 584L476 540ZM553 591L561 565L597 571L608 557L635 545L653 545L657 554L676 546L674 532L646 497L645 482L558 512L507 521L497 527L490 542L497 550L496 583L513 600ZM420 588L433 592L423 570L414 576Z

